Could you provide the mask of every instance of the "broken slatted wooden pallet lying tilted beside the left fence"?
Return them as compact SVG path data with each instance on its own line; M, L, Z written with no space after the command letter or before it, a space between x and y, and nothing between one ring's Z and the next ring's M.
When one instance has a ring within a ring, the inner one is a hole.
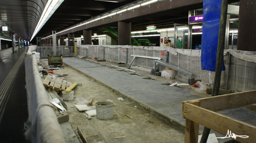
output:
M52 75L47 75L43 81L43 84L45 87L50 87L55 91L64 91L72 85L71 82L53 77Z

